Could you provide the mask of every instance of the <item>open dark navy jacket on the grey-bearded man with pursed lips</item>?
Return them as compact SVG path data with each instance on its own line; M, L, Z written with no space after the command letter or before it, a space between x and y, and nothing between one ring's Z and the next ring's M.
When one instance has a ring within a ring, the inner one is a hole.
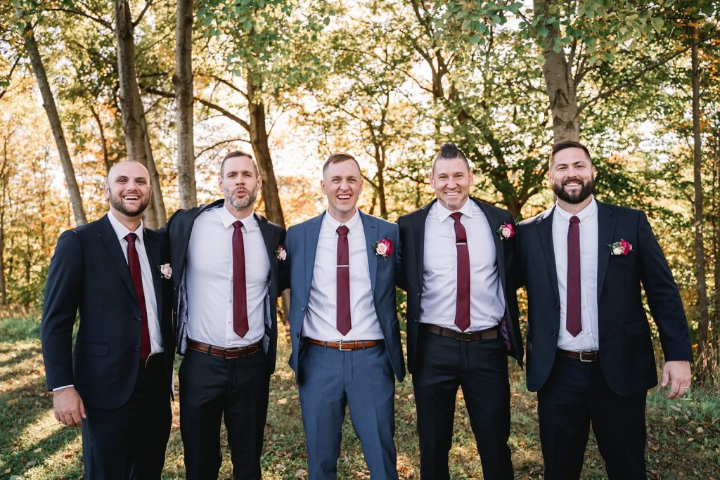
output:
M213 201L192 209L178 210L173 214L163 228L163 232L170 239L171 263L173 267L174 284L174 312L177 322L178 353L184 355L187 349L187 291L185 266L187 261L187 248L190 244L190 235L195 219L207 209L222 206L225 200ZM255 214L265 242L268 259L270 261L270 276L268 279L268 294L265 298L265 335L263 336L263 350L269 373L275 371L277 356L277 296L286 285L287 275L284 273L287 262L279 261L276 250L284 243L285 229L280 225L269 222L265 217ZM220 319L219 319L220 320Z

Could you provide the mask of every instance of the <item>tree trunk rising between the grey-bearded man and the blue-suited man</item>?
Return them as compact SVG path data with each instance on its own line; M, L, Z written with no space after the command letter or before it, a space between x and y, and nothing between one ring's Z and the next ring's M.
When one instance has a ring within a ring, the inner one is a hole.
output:
M265 214L271 222L282 227L285 219L280 204L280 194L277 189L275 171L272 166L272 157L268 146L268 134L265 130L265 105L261 99L256 98L258 86L254 83L251 74L248 74L248 109L250 110L250 143L258 163L258 170L263 177L263 201Z

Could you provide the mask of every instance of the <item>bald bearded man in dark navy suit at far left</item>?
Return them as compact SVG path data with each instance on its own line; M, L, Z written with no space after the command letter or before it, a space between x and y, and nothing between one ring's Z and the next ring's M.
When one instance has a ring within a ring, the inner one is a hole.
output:
M168 243L140 219L149 177L132 160L110 169L110 211L60 235L45 284L45 377L55 418L82 427L86 479L159 479L165 462L172 285Z

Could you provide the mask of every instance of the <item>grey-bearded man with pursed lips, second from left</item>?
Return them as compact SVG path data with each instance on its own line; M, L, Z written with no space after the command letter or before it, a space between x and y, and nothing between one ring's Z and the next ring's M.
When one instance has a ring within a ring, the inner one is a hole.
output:
M180 431L188 479L216 479L225 417L235 479L260 479L276 299L285 230L253 211L262 177L249 153L228 153L225 199L179 210L166 225L175 272Z

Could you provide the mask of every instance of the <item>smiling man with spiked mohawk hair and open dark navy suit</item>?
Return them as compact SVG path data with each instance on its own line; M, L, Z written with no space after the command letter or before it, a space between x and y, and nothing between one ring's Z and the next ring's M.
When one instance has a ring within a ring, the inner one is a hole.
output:
M420 476L450 478L448 453L462 387L483 477L510 480L507 357L521 365L523 359L518 301L508 286L516 251L513 216L469 196L472 170L454 143L437 153L430 184L437 199L397 220Z

